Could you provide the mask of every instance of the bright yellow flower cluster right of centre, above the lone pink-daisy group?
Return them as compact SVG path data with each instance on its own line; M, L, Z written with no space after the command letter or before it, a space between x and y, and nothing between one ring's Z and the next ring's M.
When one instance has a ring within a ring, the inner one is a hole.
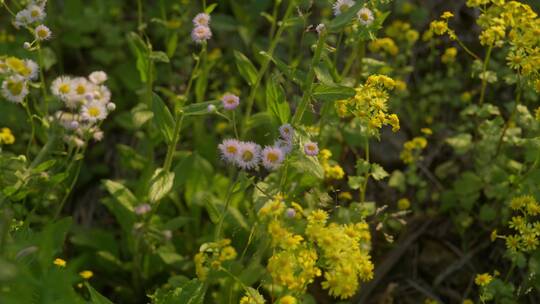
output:
M371 75L365 84L356 88L356 95L348 100L336 103L337 111L344 117L348 113L360 118L374 131L383 125L392 126L392 131L399 130L399 118L396 114L388 113L388 91L393 90L396 82L385 75Z

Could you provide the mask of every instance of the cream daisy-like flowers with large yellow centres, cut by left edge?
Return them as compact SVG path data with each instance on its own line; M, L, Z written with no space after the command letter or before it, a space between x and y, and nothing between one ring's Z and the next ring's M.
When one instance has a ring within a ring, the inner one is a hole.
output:
M21 103L29 93L29 83L36 80L39 66L31 59L16 57L0 58L0 76L2 81L2 96L8 101Z

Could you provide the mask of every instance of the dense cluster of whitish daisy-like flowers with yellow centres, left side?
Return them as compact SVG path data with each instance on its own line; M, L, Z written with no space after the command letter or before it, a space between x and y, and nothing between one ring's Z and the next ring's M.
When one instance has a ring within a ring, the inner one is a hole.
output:
M51 84L51 92L66 106L66 111L56 113L61 125L72 132L65 138L76 146L84 145L81 138L92 136L95 140L103 138L99 124L114 111L111 92L105 85L107 74L92 72L86 77L60 76Z

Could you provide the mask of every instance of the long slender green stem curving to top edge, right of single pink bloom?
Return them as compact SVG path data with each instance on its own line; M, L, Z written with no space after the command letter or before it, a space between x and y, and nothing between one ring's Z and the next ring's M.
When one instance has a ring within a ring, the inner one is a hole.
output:
M283 31L285 30L285 24L283 24L283 21L287 20L289 18L289 16L291 15L291 13L293 11L293 7L294 7L293 4L294 4L294 0L290 0L289 1L289 6L287 7L287 10L285 11L285 15L283 16L283 20L280 22L281 24L278 24L279 28L278 28L278 30L276 32L276 35L272 39L272 42L270 43L270 48L266 52L268 54L268 56L265 56L263 58L263 62L261 64L261 67L260 67L259 71L257 72L257 77L255 79L255 83L253 84L253 86L251 86L251 90L250 90L249 97L248 97L248 100L247 100L246 113L245 113L244 119L242 121L242 137L245 136L246 131L247 131L246 125L247 125L247 122L249 121L249 119L251 117L251 111L252 111L252 108L253 108L253 103L255 101L255 95L257 94L257 89L259 88L259 85L261 84L262 78L264 77L264 74L266 73L266 70L268 69L268 66L270 65L270 58L272 58L272 56L274 54L274 50L275 50L275 48L277 46L277 43L278 43L279 39L281 38L281 35L283 34Z

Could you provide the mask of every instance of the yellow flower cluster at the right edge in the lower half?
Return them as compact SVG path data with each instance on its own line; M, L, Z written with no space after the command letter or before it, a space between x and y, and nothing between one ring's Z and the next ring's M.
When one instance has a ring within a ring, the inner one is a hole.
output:
M517 233L502 237L506 240L506 247L511 252L536 250L540 237L540 203L532 196L519 196L512 199L510 208L520 215L512 217L508 223Z

